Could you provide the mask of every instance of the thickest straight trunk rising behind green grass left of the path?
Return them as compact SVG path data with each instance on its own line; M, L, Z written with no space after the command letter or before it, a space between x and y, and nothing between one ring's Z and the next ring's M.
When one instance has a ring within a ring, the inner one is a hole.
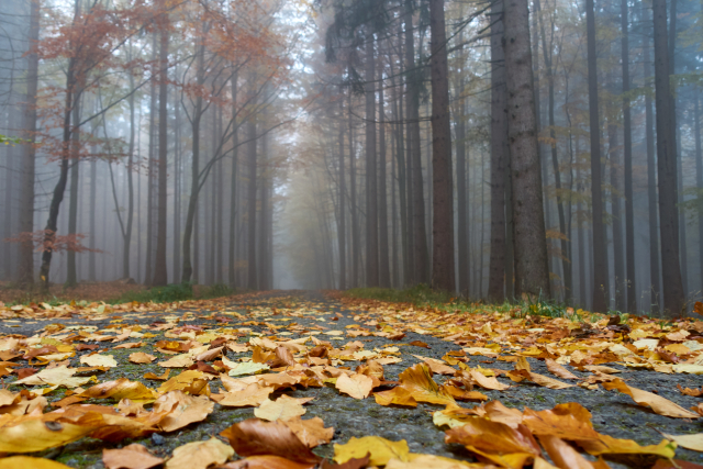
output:
M164 13L165 14L165 13ZM166 267L166 215L168 206L168 29L163 26L159 44L158 85L158 219L156 225L156 261L154 266L155 286L168 283Z

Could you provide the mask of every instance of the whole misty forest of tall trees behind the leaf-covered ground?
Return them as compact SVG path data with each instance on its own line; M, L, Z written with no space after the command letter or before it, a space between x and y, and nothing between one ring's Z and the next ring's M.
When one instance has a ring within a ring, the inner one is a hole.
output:
M1 3L4 286L701 297L701 1Z

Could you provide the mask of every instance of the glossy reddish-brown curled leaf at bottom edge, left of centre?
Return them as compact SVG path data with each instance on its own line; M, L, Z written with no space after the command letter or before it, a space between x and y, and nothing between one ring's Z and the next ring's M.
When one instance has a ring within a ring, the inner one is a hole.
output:
M281 422L247 418L226 428L220 435L230 440L237 455L280 456L295 462L316 465L322 458Z

